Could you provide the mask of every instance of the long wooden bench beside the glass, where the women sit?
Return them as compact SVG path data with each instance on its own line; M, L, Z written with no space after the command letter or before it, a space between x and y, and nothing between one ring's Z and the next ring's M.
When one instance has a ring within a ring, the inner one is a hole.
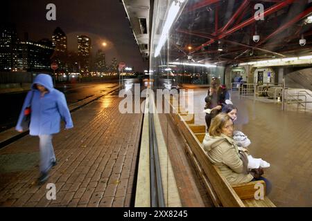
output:
M178 110L183 111L180 110L180 108L178 108ZM218 167L208 160L207 153L202 148L202 140L205 137L205 125L194 124L194 117L191 121L185 121L185 115L178 112L171 113L170 115L178 131L180 131L187 143L187 153L196 167L196 171L202 178L215 206L275 206L266 196L264 196L263 200L256 200L254 198L254 193L257 191L257 189L254 189L255 184L263 184L265 189L265 182L262 180L231 186L229 182L220 175Z

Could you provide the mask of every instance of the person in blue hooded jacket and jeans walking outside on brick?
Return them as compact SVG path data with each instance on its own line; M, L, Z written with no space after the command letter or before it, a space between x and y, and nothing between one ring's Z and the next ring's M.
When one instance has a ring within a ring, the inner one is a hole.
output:
M53 88L52 77L40 74L35 77L31 90L26 95L17 126L17 131L23 132L21 121L25 109L31 106L30 135L40 139L40 177L39 182L45 182L49 177L49 170L56 164L52 145L53 134L60 132L61 119L65 122L65 129L73 128L73 122L65 96Z

